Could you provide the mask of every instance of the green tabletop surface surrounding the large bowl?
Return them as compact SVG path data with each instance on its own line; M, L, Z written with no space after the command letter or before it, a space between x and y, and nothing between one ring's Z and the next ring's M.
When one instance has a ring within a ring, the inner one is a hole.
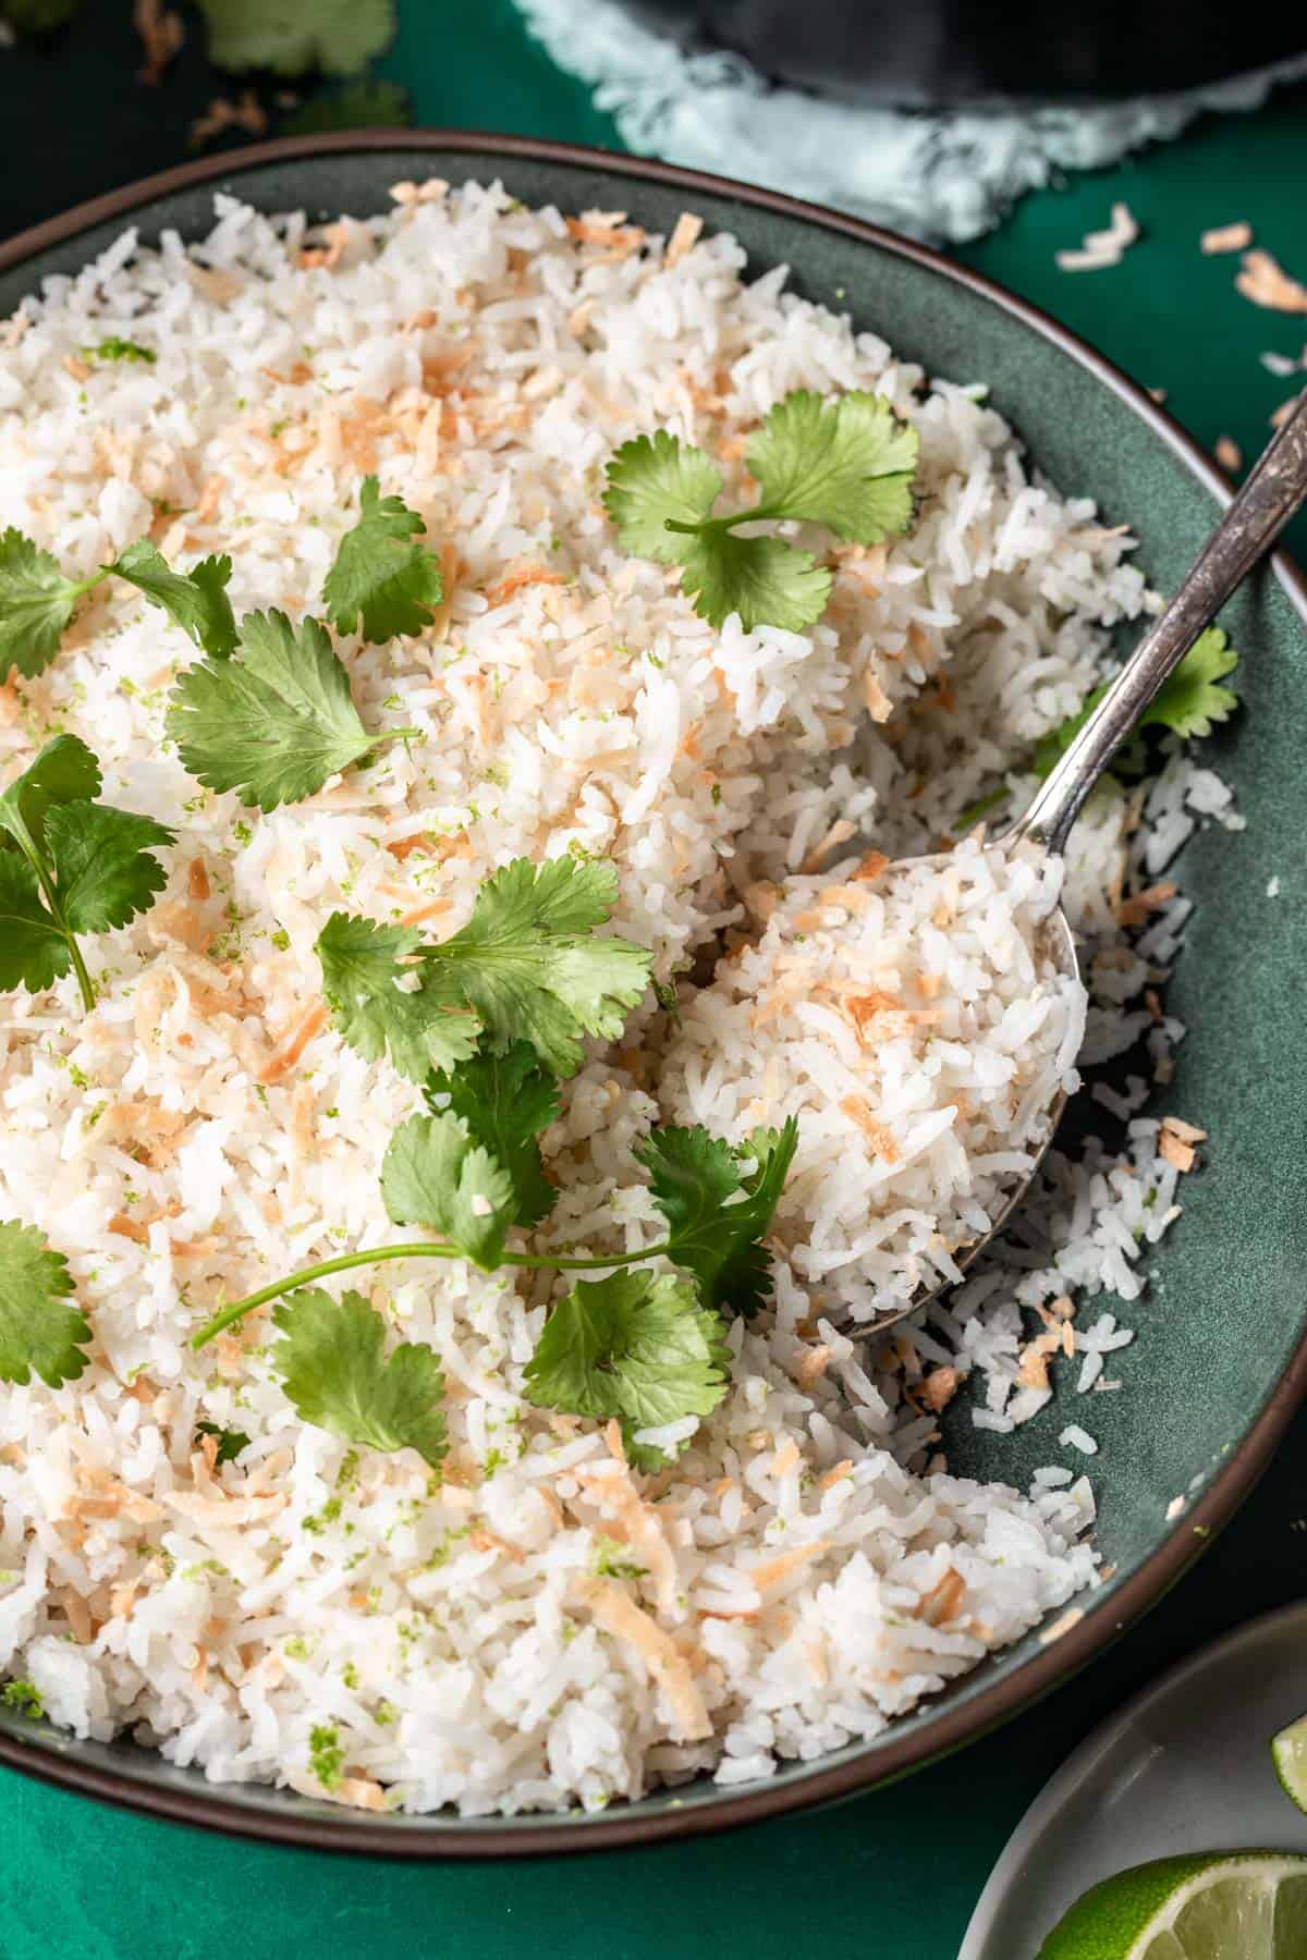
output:
M576 0L584 4L584 0ZM0 174L0 229L18 229L184 155L186 123L223 84L192 31L161 90L133 84L127 6L39 51L0 53L8 157L61 127L41 169ZM380 73L417 122L621 147L582 84L527 39L509 0L402 6ZM110 88L106 74L114 76ZM1027 198L958 253L1044 306L1150 388L1207 447L1266 441L1289 382L1258 355L1297 355L1307 316L1260 312L1236 261L1205 259L1207 225L1246 218L1258 243L1307 272L1301 186L1307 90L1252 116L1203 118L1180 141ZM8 182L6 182L8 176ZM1293 196L1297 186L1299 196ZM1062 245L1125 198L1144 239L1115 270L1064 274ZM1295 545L1307 557L1307 521ZM509 1960L952 1960L1003 1840L1086 1731L1227 1627L1299 1597L1307 1564L1307 1421L1238 1521L1146 1621L1076 1682L948 1762L835 1809L668 1850L560 1864L384 1866L239 1844L102 1809L0 1772L2 1960L351 1960L455 1954ZM1027 1960L1013 1954L1011 1960Z

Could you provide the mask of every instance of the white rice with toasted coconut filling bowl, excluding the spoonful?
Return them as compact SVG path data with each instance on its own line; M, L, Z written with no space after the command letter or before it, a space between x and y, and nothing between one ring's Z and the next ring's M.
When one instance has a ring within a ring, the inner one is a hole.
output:
M845 1282L803 1264L817 1207L827 1252L852 1215L813 1180L801 1227L782 1221L774 1311L731 1327L731 1392L668 1437L684 1454L666 1488L596 1425L523 1401L547 1296L462 1264L394 1268L386 1290L449 1382L439 1486L302 1425L239 1341L186 1348L219 1296L392 1231L376 1170L413 1092L317 1013L331 909L443 933L509 857L596 853L617 866L619 929L670 982L747 929L760 888L798 906L790 880L835 884L852 831L890 857L933 849L1080 708L1105 629L1150 604L1127 539L1031 478L982 390L921 392L780 274L747 284L729 237L674 257L496 186L423 186L315 241L218 198L202 247L127 233L27 302L4 349L0 523L71 572L151 531L165 553L231 549L239 608L300 612L372 468L451 553L429 635L341 643L364 717L394 700L425 739L270 817L196 796L163 747L178 637L135 594L98 594L59 661L6 694L6 780L53 725L82 731L106 794L178 827L169 892L114 937L96 1013L67 982L4 1002L0 1213L69 1252L96 1350L65 1390L0 1390L0 1666L78 1735L368 1809L600 1807L872 1737L1093 1582L1074 1445L1019 1495L946 1474L939 1413L970 1372L972 1419L999 1429L1048 1399L1058 1356L1086 1394L1111 1380L1129 1331L1089 1325L1078 1296L1138 1292L1180 1178L1133 1113L1144 1076L1117 1111L1129 1154L1054 1154L1009 1252L878 1354L835 1331ZM84 372L112 333L155 363ZM796 386L874 388L911 416L923 514L841 553L811 633L715 633L615 547L602 468L656 425L739 480L741 437ZM1082 823L1082 1064L1142 1043L1166 1076L1180 1031L1144 992L1184 900L1123 931L1109 894L1154 886L1197 813L1238 821L1174 757L1142 808L1099 798ZM651 1004L570 1084L547 1139L560 1237L653 1237L631 1149L664 1098L692 1096L709 1005L686 998L678 1053ZM768 1066L786 1082L766 1025L741 1041L715 1127L774 1094ZM196 1448L198 1419L251 1435L239 1466Z

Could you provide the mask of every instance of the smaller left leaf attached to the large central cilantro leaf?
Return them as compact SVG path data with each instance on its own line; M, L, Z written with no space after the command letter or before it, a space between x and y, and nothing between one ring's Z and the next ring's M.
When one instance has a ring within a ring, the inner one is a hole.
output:
M413 992L400 988L421 976L413 962L419 947L411 927L376 925L349 911L333 911L317 935L321 988L337 1029L368 1062L390 1053L410 1082L466 1060L480 1035L476 1015L439 990L421 982Z

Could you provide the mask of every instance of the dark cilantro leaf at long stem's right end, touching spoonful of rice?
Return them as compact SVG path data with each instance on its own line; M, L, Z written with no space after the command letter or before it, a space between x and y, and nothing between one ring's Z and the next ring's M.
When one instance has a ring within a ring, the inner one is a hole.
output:
M772 1290L762 1239L799 1143L799 1125L756 1129L731 1149L702 1127L654 1129L637 1149L668 1223L666 1256L700 1282L707 1307L750 1317ZM752 1160L752 1170L741 1164Z

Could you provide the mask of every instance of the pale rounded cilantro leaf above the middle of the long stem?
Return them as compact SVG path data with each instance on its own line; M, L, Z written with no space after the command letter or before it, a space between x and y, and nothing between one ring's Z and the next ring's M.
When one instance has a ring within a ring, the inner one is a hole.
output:
M517 1223L513 1180L451 1109L400 1123L382 1160L382 1201L396 1225L433 1225L482 1272L500 1264Z

